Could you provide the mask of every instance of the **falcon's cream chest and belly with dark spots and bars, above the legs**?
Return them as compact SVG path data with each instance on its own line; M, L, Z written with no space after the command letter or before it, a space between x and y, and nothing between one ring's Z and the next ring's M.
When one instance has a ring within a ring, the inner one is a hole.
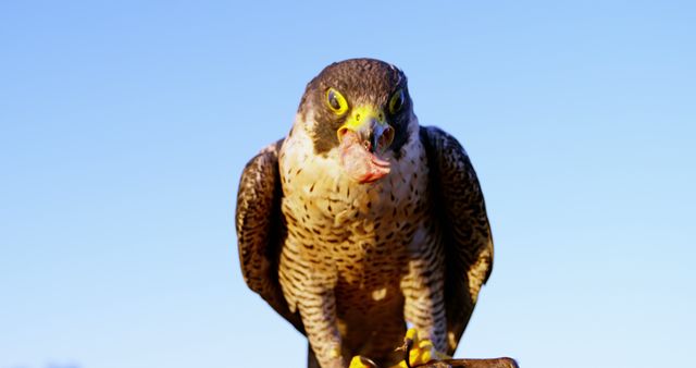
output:
M412 120L403 156L396 160L387 154L391 171L372 184L345 175L336 150L314 155L301 122L283 145L286 248L326 277L331 286L396 286L409 255L428 243L427 162L415 116Z

